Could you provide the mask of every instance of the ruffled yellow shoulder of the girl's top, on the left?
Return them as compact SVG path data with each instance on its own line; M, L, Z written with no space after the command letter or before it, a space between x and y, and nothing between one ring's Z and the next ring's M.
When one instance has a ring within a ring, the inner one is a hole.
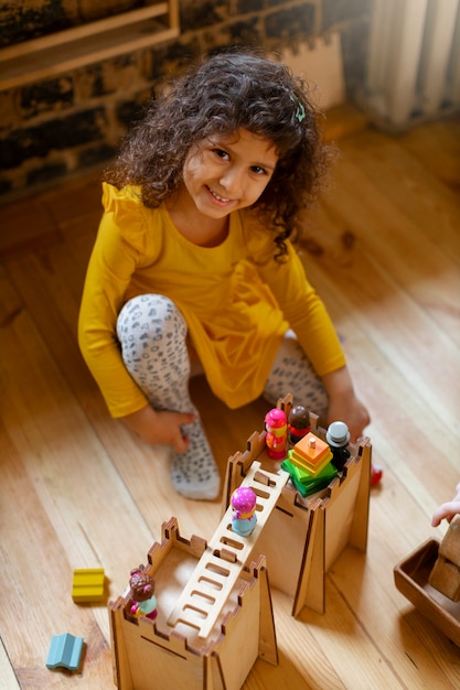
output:
M127 186L117 190L114 185L103 182L103 206L106 214L111 214L113 224L124 240L141 254L149 252L149 233L140 187Z

